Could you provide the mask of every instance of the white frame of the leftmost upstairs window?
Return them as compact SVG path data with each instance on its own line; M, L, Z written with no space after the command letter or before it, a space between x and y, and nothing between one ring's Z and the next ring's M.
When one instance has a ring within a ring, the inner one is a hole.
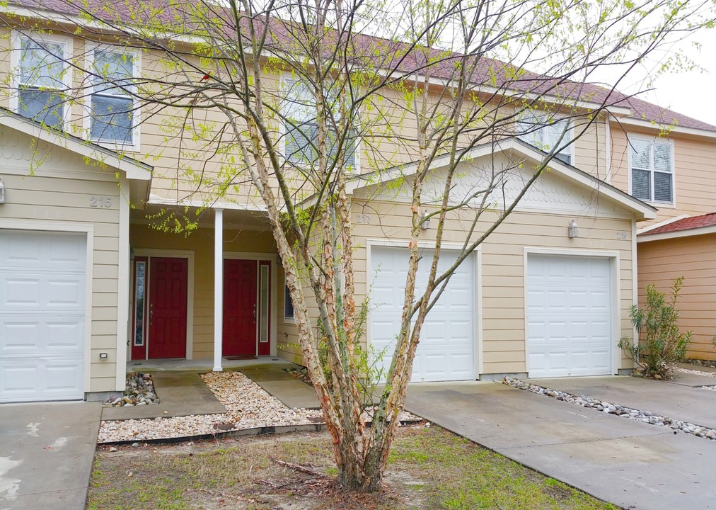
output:
M37 90L38 92L58 90L59 95L64 95L65 97L62 99L61 119L57 122L56 125L54 125L54 127L58 129L64 129L67 126L67 123L69 123L69 119L72 116L72 108L70 108L71 105L69 102L66 101L67 96L69 95L69 90L71 90L72 88L72 67L69 65L69 58L72 57L73 52L72 37L62 37L54 34L39 34L37 32L31 31L20 32L18 30L14 30L13 32L11 32L10 38L12 47L12 51L10 52L11 86L14 90L9 100L10 109L15 113L19 113L22 115L21 110L24 109L24 106L26 107L26 105L23 106L23 101L20 97L20 88L23 86L27 87L26 90ZM32 83L32 80L37 80L38 78L42 80L41 74L38 73L37 75L29 77L29 80L26 79L26 77L21 76L21 55L23 52L23 39L25 41L32 42L33 45L37 45L39 47L44 46L47 49L51 49L52 51L56 49L62 50L61 57L60 55L53 55L54 57L58 58L58 60L60 60L62 64L62 75L60 77L60 80L57 80L57 77L52 76L49 78L54 83L39 83L39 87L37 87ZM57 88L55 88L55 85L57 85ZM42 121L42 118L39 118L37 120Z

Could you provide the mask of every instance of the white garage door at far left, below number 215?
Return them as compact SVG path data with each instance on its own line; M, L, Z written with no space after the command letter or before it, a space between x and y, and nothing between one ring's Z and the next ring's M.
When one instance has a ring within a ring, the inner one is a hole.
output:
M0 402L82 399L86 237L0 230Z

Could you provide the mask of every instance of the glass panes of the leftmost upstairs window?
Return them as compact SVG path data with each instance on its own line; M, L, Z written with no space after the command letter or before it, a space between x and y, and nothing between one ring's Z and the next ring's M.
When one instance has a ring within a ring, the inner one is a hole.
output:
M64 124L67 48L62 42L19 36L17 113L52 128Z

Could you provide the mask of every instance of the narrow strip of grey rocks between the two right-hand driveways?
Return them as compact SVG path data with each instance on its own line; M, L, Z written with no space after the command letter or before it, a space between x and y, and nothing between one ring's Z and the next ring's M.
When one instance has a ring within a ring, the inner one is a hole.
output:
M507 384L513 388L523 389L524 391L544 395L545 397L552 397L556 400L562 400L563 402L569 402L570 404L579 405L581 407L591 407L596 411L606 412L610 415L649 423L651 425L658 425L660 427L667 427L674 430L674 434L680 430L683 433L692 434L699 438L716 440L716 430L695 425L694 423L675 420L674 418L667 416L654 415L649 411L632 409L631 407L624 407L612 404L611 402L604 402L603 400L586 397L584 395L572 395L568 392L561 392L558 389L541 387L537 384L531 384L529 382L521 381L520 379L514 379L513 377L505 377L502 382L503 384Z

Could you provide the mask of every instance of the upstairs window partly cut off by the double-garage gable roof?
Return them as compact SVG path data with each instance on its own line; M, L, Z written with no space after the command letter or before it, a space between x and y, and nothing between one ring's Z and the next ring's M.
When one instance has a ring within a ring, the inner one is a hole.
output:
M517 137L544 152L550 152L558 144L562 149L554 157L566 164L572 164L574 158L569 119L559 120L547 113L526 111L518 121Z

